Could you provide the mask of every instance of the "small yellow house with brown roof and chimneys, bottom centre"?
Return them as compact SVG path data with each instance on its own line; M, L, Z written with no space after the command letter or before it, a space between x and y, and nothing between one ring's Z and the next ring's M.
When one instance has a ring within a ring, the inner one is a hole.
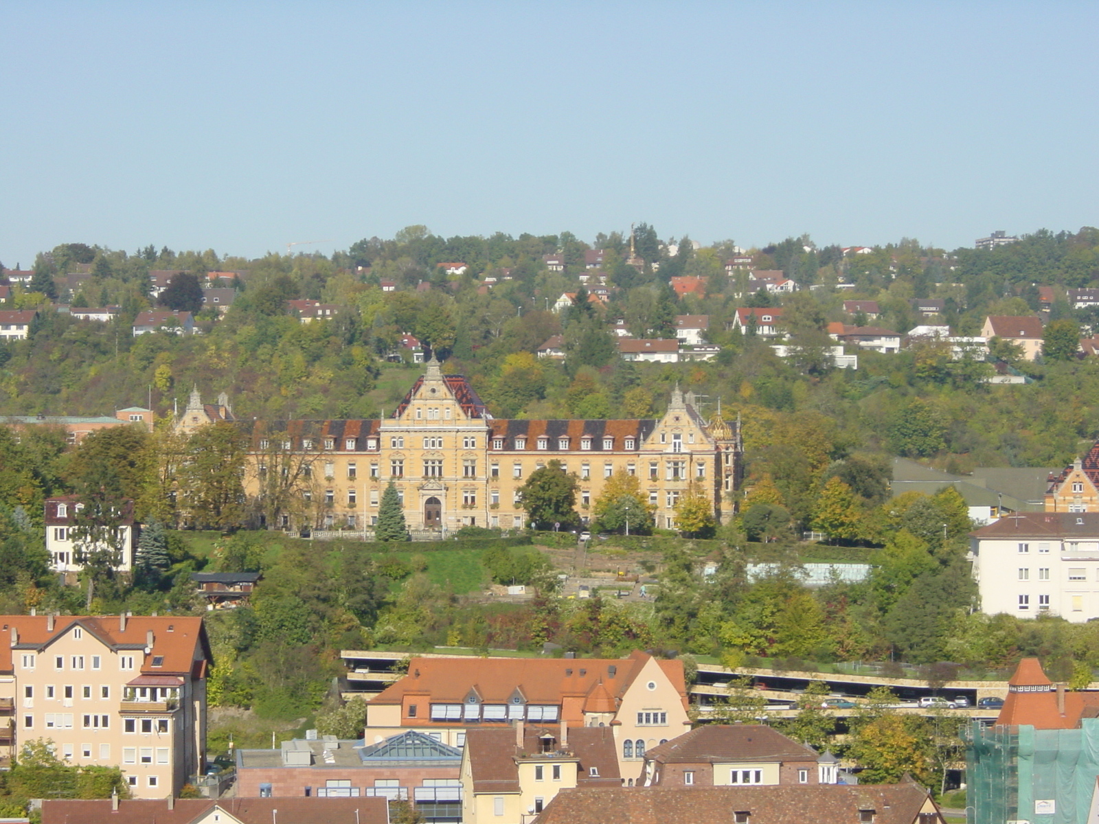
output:
M574 787L618 788L614 733L567 723L470 730L462 758L462 824L525 824Z

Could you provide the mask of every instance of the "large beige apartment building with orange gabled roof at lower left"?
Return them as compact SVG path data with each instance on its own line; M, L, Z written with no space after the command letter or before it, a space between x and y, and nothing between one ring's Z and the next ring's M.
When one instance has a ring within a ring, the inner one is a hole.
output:
M178 794L204 767L210 646L200 617L3 615L4 757L51 742L74 765L120 767L134 798ZM8 760L10 764L10 760Z

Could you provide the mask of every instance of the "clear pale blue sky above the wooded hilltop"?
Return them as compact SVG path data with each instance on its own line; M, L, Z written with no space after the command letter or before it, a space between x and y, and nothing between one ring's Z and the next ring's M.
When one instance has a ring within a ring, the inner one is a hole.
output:
M1096 2L0 0L0 260L1099 224Z

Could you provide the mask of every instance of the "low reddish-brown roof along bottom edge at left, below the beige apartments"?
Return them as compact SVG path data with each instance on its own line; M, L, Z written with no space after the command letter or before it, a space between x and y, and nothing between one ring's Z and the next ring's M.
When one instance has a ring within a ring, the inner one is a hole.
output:
M46 799L42 824L389 824L384 798Z

